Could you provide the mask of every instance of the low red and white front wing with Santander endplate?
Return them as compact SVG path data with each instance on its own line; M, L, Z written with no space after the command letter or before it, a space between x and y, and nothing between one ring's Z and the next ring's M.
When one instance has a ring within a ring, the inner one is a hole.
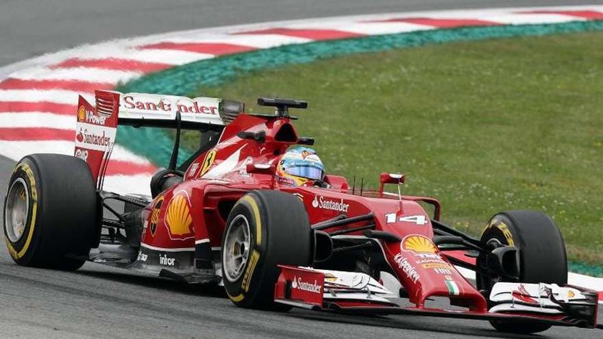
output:
M516 320L600 328L598 294L576 286L497 283L488 312L402 306L397 295L364 273L280 265L275 302L346 314L412 314L478 320Z

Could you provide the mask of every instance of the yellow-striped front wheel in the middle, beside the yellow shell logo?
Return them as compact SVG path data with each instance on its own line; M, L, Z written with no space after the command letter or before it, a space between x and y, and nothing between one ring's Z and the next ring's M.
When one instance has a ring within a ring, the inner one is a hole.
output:
M277 264L312 263L311 229L302 201L293 194L255 190L238 200L222 238L222 280L237 306L289 310L274 302Z

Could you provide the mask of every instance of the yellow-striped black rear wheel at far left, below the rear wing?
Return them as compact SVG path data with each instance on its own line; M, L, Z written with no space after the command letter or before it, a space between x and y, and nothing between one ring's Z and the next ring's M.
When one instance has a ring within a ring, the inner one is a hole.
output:
M33 154L12 173L4 200L4 238L22 266L74 271L96 244L97 194L88 164Z

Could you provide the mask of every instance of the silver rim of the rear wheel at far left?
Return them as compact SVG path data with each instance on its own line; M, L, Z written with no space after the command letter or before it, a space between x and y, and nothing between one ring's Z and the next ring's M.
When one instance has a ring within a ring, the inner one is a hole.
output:
M18 242L25 232L29 215L29 190L23 178L17 178L6 196L4 228L10 242Z

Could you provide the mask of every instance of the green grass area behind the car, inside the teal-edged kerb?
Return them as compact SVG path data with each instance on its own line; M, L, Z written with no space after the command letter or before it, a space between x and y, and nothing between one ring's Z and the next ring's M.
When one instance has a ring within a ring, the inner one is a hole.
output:
M603 34L456 42L320 60L190 95L310 102L297 112L330 173L437 197L471 234L500 210L561 227L571 260L603 263ZM263 112L248 104L248 112Z

